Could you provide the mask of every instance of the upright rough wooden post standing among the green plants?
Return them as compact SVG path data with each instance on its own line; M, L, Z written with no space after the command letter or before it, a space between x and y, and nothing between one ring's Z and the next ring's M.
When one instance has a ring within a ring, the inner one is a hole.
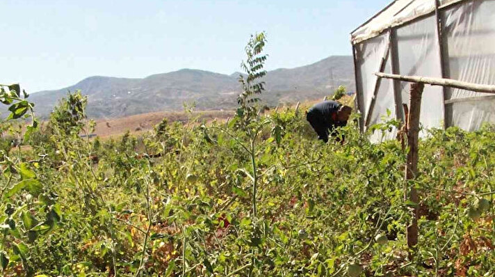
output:
M414 187L414 184L409 184L409 180L414 180L418 173L419 116L421 113L421 95L424 87L425 85L422 83L411 84L409 95L409 118L407 120L407 146L409 146L409 152L407 152L407 164L405 166L405 179L409 187L406 187L404 196L406 201L409 200L416 204L414 205L414 217L406 230L407 246L409 248L418 244L419 196L416 187Z

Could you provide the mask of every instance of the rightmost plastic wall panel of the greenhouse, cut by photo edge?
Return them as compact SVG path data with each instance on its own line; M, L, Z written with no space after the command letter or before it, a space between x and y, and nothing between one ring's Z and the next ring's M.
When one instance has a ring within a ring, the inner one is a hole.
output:
M448 74L451 79L476 84L495 84L495 1L467 1L443 14L448 43ZM486 93L450 89L446 100L480 97ZM448 125L472 131L483 120L495 122L495 100L447 102ZM453 114L450 114L453 113Z

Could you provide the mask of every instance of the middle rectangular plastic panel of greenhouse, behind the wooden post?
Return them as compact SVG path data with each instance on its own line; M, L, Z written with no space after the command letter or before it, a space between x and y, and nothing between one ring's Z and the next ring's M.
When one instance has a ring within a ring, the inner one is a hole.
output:
M397 29L398 63L402 75L441 78L441 62L435 16L421 19ZM409 104L410 83L401 82L403 103ZM425 86L421 102L421 126L442 127L444 92L439 86ZM425 132L422 132L422 136Z

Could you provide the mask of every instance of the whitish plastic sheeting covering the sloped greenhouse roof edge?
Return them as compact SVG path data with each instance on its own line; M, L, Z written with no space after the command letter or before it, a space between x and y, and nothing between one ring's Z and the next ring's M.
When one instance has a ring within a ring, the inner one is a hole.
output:
M445 5L459 0L441 0ZM435 0L396 0L391 5L375 15L370 22L359 27L351 34L352 44L372 38L389 29L411 19L432 13L435 10Z

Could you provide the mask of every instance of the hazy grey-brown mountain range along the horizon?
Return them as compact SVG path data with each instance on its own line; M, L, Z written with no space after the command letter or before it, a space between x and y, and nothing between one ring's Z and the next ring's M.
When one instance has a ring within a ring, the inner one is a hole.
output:
M239 72L231 75L184 69L155 74L143 79L88 77L59 90L33 93L38 116L46 118L67 91L88 95L91 118L118 118L150 111L177 111L184 102L196 103L198 110L232 109L240 93ZM330 56L311 65L269 71L262 98L270 106L314 100L330 95L339 85L355 89L352 56ZM334 88L332 88L334 84Z

